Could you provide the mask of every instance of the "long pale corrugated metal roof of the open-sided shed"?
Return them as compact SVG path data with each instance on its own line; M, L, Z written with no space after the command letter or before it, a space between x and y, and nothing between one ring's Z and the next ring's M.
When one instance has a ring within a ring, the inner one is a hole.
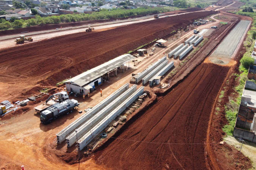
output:
M69 80L66 80L64 83L73 82L79 86L86 85L97 77L102 76L103 74L108 73L109 71L114 70L115 68L129 62L135 57L130 54L124 54L122 56L116 57L113 60L110 60L102 65L94 67L91 70L86 71L85 73L79 74Z

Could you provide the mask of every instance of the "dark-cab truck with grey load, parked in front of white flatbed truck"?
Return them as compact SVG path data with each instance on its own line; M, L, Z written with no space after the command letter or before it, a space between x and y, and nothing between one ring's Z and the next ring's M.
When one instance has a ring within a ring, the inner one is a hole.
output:
M42 124L49 124L53 119L63 115L72 113L75 107L78 107L79 103L77 100L68 99L62 103L57 103L42 111L40 114L40 121Z

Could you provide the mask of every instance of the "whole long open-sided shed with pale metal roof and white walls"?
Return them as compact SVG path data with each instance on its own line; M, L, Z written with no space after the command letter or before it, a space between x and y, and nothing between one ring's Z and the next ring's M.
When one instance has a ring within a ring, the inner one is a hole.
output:
M88 70L78 76L75 76L69 80L66 80L66 90L72 91L73 93L88 94L91 92L91 89L96 88L102 83L102 76L104 74L109 75L111 71L117 71L118 67L123 67L125 63L130 60L135 59L134 56L130 54L124 54L122 56L116 57L113 60L110 60L102 65L94 67L91 70Z

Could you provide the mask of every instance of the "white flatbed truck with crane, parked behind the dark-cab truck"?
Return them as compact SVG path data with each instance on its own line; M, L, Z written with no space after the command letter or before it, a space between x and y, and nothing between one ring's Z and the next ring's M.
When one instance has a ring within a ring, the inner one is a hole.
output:
M67 99L69 99L69 96L68 96L68 93L65 91L53 94L46 100L45 104L35 107L35 110L37 113L41 113L42 111L46 110L47 108L51 107L52 105L61 103Z

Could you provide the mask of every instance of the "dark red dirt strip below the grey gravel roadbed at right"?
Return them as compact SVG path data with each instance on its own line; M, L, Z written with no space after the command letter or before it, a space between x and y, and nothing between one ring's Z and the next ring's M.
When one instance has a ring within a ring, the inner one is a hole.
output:
M228 71L229 67L210 63L199 65L123 133L117 133L118 139L100 148L99 164L107 169L206 169L209 116Z

